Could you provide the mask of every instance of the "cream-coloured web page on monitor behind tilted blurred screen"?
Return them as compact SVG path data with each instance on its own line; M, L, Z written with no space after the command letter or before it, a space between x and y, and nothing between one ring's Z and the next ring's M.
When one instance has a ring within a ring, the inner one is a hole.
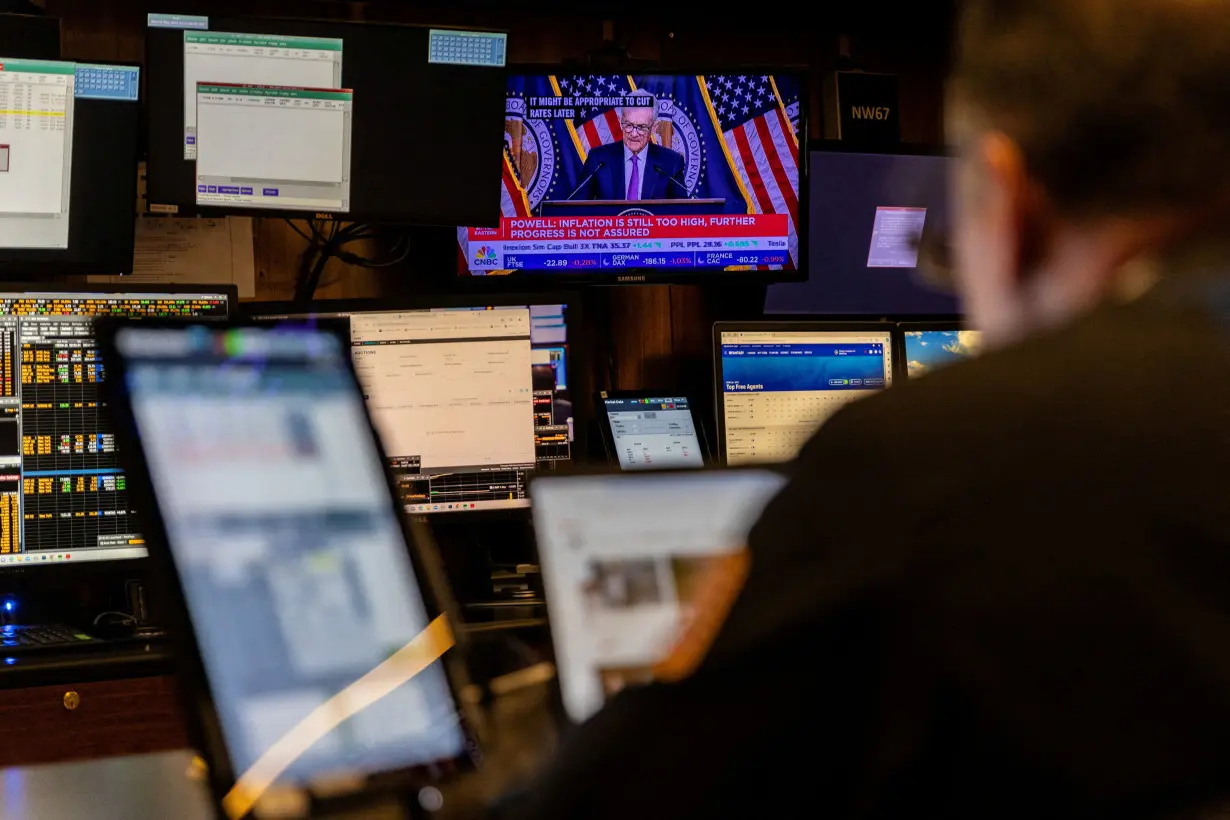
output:
M359 313L351 342L389 457L424 472L534 463L528 310Z

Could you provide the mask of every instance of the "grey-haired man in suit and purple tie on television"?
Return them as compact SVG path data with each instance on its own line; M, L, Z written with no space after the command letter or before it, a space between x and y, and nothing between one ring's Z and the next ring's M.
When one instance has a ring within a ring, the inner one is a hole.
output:
M688 199L683 154L649 139L656 112L653 97L636 97L635 106L620 109L624 141L589 151L581 186L569 199Z

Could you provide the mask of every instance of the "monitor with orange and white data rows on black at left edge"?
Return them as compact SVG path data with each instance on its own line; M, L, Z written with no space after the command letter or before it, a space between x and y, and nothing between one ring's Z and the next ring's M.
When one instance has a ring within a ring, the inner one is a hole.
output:
M234 286L0 285L0 570L144 558L92 321L225 320Z

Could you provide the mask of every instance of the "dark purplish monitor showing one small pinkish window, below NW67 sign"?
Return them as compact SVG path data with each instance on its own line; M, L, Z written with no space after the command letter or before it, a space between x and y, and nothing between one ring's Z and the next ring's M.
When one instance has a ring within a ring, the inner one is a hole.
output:
M937 152L866 154L831 144L812 151L811 277L771 285L765 312L958 315L952 290L919 268L918 247L924 232L947 234L950 162Z

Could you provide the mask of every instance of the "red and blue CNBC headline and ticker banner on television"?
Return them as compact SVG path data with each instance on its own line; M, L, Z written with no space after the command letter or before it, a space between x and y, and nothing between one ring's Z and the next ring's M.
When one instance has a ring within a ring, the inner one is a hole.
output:
M470 246L477 245L470 268L480 273L780 266L790 259L788 231L785 214L506 218L498 229L470 229Z

